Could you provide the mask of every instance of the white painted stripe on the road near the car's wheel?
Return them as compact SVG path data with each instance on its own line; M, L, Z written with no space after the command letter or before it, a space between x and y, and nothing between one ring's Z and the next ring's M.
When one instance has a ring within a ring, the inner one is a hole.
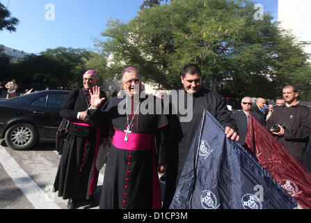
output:
M19 167L19 164L17 164L3 146L0 146L0 162L6 170L6 173L12 178L36 209L61 209L49 198L48 194Z

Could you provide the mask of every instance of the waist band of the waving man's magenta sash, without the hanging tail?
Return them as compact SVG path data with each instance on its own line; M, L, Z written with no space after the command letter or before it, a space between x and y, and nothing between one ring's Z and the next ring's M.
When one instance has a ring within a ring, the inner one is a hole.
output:
M116 148L129 151L149 151L152 149L152 139L154 134L130 133L128 141L125 141L125 132L115 130L111 143Z

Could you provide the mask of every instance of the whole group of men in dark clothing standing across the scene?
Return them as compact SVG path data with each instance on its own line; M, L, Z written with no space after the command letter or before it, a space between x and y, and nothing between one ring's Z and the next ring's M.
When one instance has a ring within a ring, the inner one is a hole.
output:
M266 105L264 98L258 98L253 105L250 97L244 97L241 111L230 114L225 99L202 86L198 66L184 66L180 78L182 91L177 91L177 98L169 98L170 112L165 114L156 111L156 96L136 97L143 91L136 68L122 71L122 93L109 99L97 86L95 70L83 74L83 87L73 89L61 108L61 116L70 120L71 125L54 192L68 199L68 208L75 208L79 199L92 201L100 144L109 149L99 208L169 208L205 110L223 125L226 137L241 145L246 137L248 115L252 114L299 162L310 165L311 157L305 154L311 137L311 111L298 102L294 86L282 89L283 96L276 98L275 106ZM184 95L191 95L191 104ZM184 113L178 109L179 103L191 107L191 120L182 121ZM153 112L138 112L146 104ZM127 106L127 112L120 112L120 105ZM172 112L174 107L177 113ZM166 174L163 203L158 173Z

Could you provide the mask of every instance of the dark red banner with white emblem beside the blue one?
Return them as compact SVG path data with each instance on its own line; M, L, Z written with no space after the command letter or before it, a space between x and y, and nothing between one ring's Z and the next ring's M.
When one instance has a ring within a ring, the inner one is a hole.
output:
M311 174L251 114L245 147L302 208L311 208Z

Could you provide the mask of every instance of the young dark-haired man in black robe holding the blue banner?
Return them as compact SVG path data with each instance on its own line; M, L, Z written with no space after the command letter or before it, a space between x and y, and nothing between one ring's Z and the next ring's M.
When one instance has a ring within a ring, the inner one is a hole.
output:
M224 98L202 87L200 68L193 64L184 66L181 80L184 88L173 91L170 95L170 104L172 105L169 116L171 138L168 150L164 208L168 208L173 199L186 157L205 109L223 125L228 138L239 140L237 126L230 116ZM174 114L174 111L177 111L177 114Z

